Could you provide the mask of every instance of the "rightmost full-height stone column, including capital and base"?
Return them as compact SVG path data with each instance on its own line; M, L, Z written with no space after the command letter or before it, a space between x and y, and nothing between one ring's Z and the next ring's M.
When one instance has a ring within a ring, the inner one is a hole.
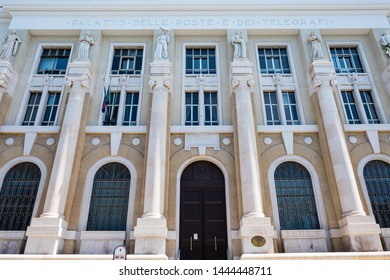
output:
M360 200L343 126L340 121L332 86L336 85L332 62L313 61L310 67L312 92L316 94L319 113L317 122L326 142L341 204L339 226L348 251L382 251L380 229L373 217L366 216ZM322 137L321 137L322 138Z

